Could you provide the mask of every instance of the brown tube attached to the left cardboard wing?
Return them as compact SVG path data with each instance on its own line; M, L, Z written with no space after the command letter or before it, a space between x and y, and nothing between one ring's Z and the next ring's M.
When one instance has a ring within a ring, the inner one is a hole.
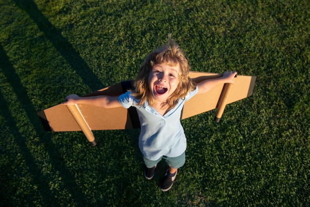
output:
M66 105L66 106L69 109L69 111L72 114L75 121L77 122L77 124L80 126L82 132L84 133L84 135L86 136L88 141L91 143L92 146L95 146L97 144L97 141L96 141L90 127L86 123L78 105L75 104L75 105Z

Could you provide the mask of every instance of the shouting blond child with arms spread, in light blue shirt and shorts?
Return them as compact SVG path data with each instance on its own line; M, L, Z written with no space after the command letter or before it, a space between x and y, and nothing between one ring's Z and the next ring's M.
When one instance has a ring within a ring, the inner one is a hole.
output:
M169 165L160 190L168 191L178 168L185 163L186 138L180 116L185 101L206 93L222 83L234 83L237 72L225 72L222 77L205 80L197 85L188 76L190 66L178 44L170 35L168 43L152 51L145 59L135 79L135 89L120 96L79 97L69 95L65 105L90 104L105 108L137 109L141 132L139 148L145 162L144 176L151 180L157 163L164 158Z

